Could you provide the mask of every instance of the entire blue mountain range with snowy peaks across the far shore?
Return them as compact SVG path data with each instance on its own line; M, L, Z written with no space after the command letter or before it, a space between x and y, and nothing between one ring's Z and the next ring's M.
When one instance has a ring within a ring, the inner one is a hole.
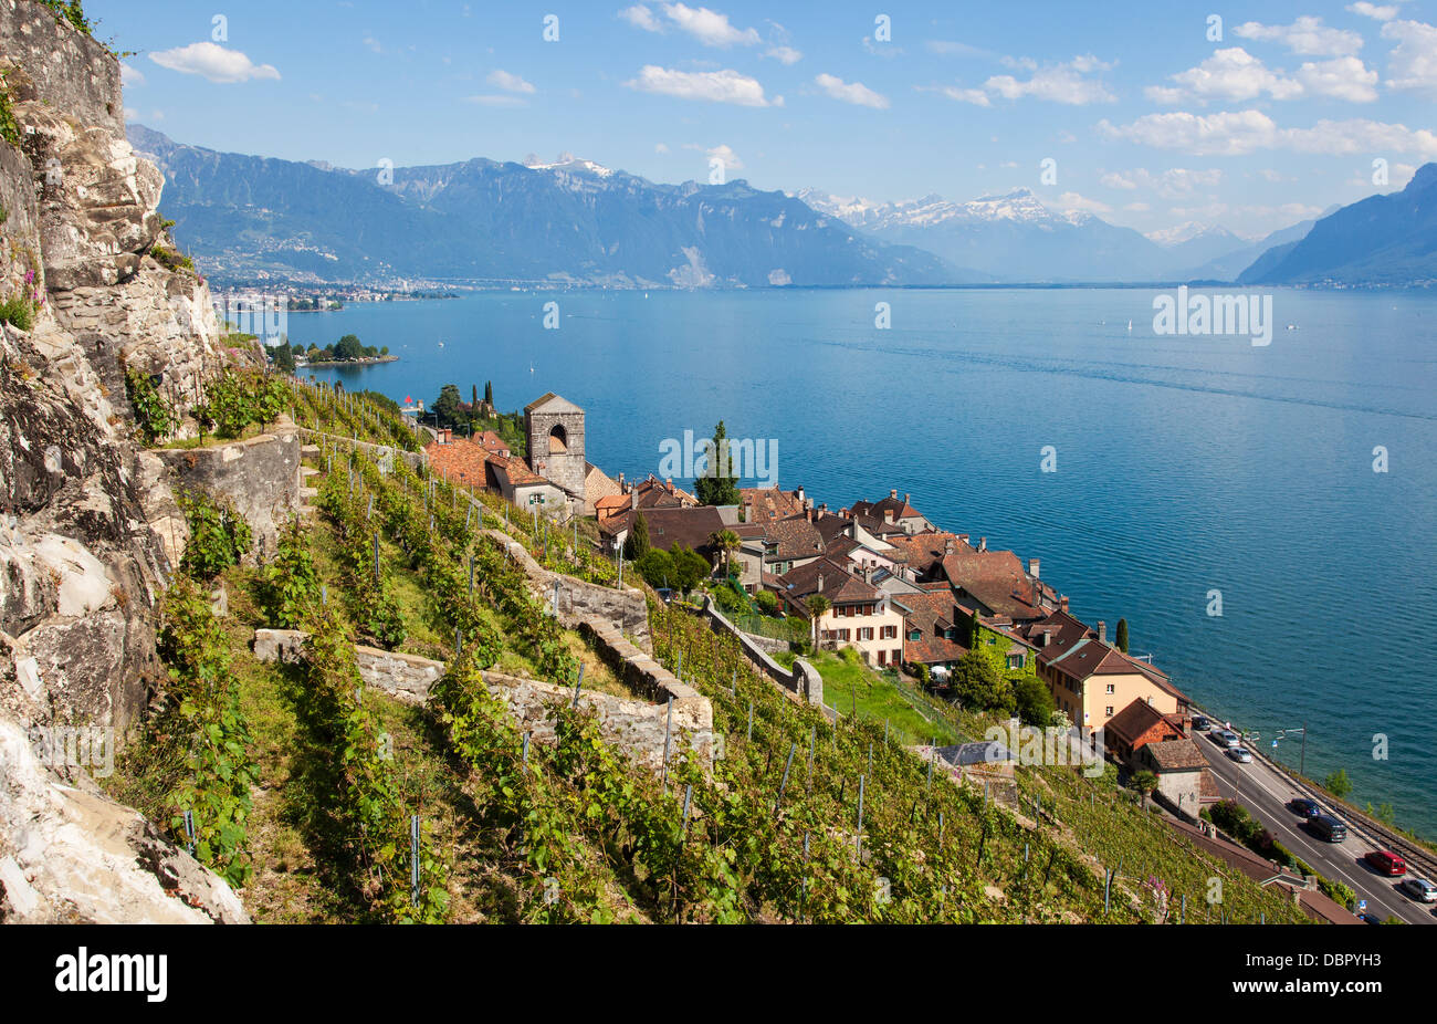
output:
M217 152L129 127L164 171L175 236L221 280L616 288L1437 279L1437 164L1405 190L1252 240L1211 224L1144 236L1030 190L844 198L747 181L658 184L565 154L384 171ZM1430 194L1428 194L1430 193Z

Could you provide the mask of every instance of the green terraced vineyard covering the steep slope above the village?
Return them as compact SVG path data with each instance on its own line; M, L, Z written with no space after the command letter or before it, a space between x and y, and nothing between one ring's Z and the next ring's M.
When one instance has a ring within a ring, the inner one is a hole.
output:
M572 699L547 712L555 742L535 742L484 670L575 687L592 653L486 531L589 580L616 580L616 567L582 534L575 544L572 525L546 535L491 495L354 443L412 440L392 411L296 391L296 414L319 431L318 515L285 531L272 567L223 577L237 735L259 784L246 834L211 860L251 866L241 896L259 919L1177 920L1154 912L1148 874L1201 919L1193 900L1221 872L1144 811L1091 797L1072 772L1020 769L1025 805L1043 801L1035 826L954 785L881 721L831 722L795 702L677 605L651 601L654 654L713 703L711 764L675 744L661 772L639 768ZM315 588L320 600L306 597ZM310 633L303 663L259 663L257 626ZM359 683L355 641L415 636L447 649L427 706ZM152 790L170 778L139 774L131 782ZM1111 893L1105 869L1118 870ZM1240 876L1224 879L1221 908L1229 920L1296 913Z

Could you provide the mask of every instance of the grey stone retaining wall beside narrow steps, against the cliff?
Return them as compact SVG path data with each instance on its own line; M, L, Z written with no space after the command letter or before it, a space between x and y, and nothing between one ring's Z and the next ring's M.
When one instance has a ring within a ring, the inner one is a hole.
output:
M279 426L273 433L204 449L162 449L177 490L198 489L234 502L263 542L274 552L279 528L300 506L299 430Z

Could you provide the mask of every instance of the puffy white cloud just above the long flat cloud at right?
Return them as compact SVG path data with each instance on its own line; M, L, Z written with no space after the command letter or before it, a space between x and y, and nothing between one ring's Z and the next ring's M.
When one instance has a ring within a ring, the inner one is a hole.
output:
M1334 96L1354 104L1377 99L1377 72L1368 70L1358 58L1306 62L1289 78L1282 70L1269 69L1242 46L1221 49L1196 68L1173 75L1175 86L1154 85L1145 89L1148 99L1158 104L1178 104L1196 99L1247 101L1263 95L1272 99L1300 99L1303 96Z

